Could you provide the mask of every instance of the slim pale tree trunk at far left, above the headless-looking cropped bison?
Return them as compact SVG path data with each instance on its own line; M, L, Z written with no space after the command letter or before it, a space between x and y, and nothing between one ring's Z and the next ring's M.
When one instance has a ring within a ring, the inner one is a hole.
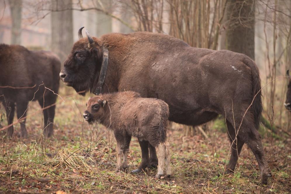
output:
M11 44L21 44L22 0L9 0L12 18Z

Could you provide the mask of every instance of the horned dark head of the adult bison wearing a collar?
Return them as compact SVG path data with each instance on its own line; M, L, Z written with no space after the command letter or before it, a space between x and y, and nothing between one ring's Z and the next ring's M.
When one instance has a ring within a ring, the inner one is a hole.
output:
M67 86L72 86L77 92L91 91L94 78L100 72L102 63L102 48L95 37L86 30L87 38L83 38L82 29L78 31L79 40L75 42L70 55L64 62L60 79ZM85 93L81 95L85 95Z

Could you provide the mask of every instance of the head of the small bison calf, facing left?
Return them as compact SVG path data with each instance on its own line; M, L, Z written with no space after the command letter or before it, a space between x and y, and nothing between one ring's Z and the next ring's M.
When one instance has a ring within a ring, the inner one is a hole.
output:
M83 117L89 124L93 122L100 123L105 118L107 101L100 97L89 98L89 101L86 103L87 110L85 110Z

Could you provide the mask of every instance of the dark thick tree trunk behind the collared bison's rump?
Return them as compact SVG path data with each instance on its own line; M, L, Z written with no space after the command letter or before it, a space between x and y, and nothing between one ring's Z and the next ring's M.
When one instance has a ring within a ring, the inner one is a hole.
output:
M226 48L254 60L254 0L229 0Z

